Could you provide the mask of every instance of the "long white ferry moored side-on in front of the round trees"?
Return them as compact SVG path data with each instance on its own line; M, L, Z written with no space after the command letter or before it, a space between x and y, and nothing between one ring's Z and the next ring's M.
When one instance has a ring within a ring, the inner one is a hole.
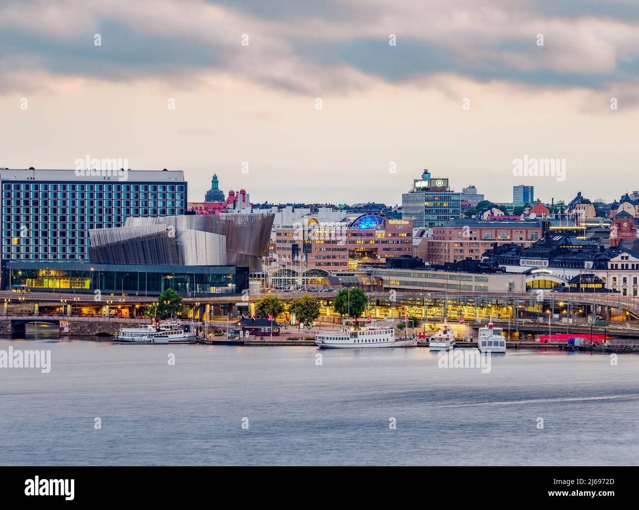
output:
M337 349L410 347L417 344L417 337L395 337L394 325L364 326L354 330L342 327L339 331L319 331L315 336L315 344L318 347Z

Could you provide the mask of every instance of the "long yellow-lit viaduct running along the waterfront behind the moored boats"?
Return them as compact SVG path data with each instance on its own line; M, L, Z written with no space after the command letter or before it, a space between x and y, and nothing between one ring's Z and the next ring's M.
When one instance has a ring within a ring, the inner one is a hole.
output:
M609 294L557 293L550 291L533 292L456 292L456 291L367 291L369 308L366 315L376 318L399 318L408 313L415 318L429 322L443 321L444 317L452 323L463 316L466 323L502 320L505 325L522 333L547 334L550 313L551 332L573 332L585 334L590 331L589 320L601 316L606 321L609 334L622 338L635 338L639 334L639 298ZM200 320L226 321L227 316L238 317L238 305L250 306L265 295L272 295L284 302L291 302L303 295L312 295L321 302L324 320L339 321L330 302L334 292L285 292L259 293L243 297L242 295L224 295L209 297L182 298L189 308L189 318ZM24 328L29 322L38 321L56 324L60 320L72 323L71 334L113 334L120 323L148 323L148 318L138 319L140 307L157 302L153 296L102 295L96 300L93 293L68 292L13 292L0 291L0 302L4 301L4 314L0 314L0 333L10 334ZM83 316L73 311L92 308L91 315ZM125 309L128 316L114 317L114 307ZM47 310L48 308L48 310ZM242 309L245 311L245 309ZM96 316L97 315L97 316ZM5 319L4 321L2 319ZM28 318L28 320L27 320ZM187 318L184 317L183 318ZM11 321L11 328L5 323ZM543 323L540 323L543 320ZM57 322L56 322L57 321ZM89 326L88 324L91 324ZM616 326L621 326L615 327ZM470 327L470 324L469 324ZM594 332L603 333L604 328L594 328ZM79 333L81 332L81 333ZM619 336L621 335L621 336Z

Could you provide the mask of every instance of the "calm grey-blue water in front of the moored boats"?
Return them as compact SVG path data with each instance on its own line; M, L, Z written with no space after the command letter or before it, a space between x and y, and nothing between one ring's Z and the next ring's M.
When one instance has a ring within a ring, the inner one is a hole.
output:
M50 349L52 369L0 369L3 465L639 463L638 355L511 351L482 374L426 348L316 366L301 346L9 346Z

